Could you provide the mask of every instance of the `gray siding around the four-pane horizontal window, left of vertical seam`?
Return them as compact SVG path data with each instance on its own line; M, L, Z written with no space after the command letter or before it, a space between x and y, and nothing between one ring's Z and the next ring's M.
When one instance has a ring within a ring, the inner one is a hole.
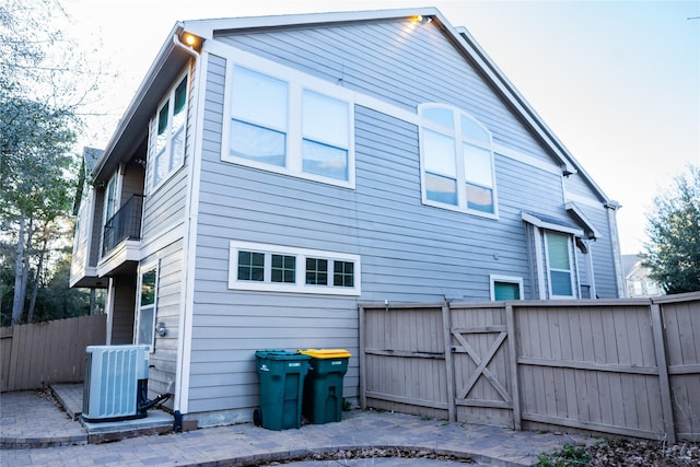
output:
M190 412L257 406L255 350L339 347L358 354L354 299L228 289L229 242L234 238L346 253L358 253L358 247L354 209L346 210L352 190L221 162L223 65L218 57L209 62ZM345 395L357 397L357 357L345 382Z

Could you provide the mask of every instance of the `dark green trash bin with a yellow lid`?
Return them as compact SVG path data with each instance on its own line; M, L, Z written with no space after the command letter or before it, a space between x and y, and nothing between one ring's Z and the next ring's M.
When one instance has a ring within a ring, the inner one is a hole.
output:
M306 349L300 353L311 357L302 413L314 424L340 421L342 377L348 371L350 352L343 349Z

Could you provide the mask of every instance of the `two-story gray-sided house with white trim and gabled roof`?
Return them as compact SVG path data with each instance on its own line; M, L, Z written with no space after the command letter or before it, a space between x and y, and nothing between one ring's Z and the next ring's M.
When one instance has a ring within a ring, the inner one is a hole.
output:
M435 9L177 23L91 186L71 283L200 427L256 349L357 355L359 303L625 294L619 205Z

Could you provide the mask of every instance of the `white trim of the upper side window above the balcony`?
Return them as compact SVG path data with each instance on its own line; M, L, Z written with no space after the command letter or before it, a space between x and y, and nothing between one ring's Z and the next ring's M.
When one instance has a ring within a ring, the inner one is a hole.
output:
M173 108L174 108L174 101L175 101L175 90L177 89L177 86L179 85L179 83L183 81L183 79L187 80L187 84L185 85L187 87L187 97L185 100L185 122L183 124L183 131L184 131L184 136L183 136L183 160L179 164L174 165L173 168L163 176L163 178L161 178L159 180L158 184L153 184L153 178L155 177L155 170L158 168L155 166L155 156L158 155L155 153L155 141L158 139L158 116L159 113L161 110L161 108L163 108L163 105L171 101L172 105L168 108L168 113L167 113L167 142L165 143L165 148L164 151L168 154L170 157L170 151L171 151L171 144L173 143ZM145 184L145 191L147 195L151 195L154 194L155 191L158 191L167 180L170 180L173 175L175 175L175 173L177 173L183 166L185 166L185 160L187 159L187 121L188 121L188 115L189 115L189 92L190 92L190 75L189 75L189 71L186 70L184 71L182 74L179 74L177 77L177 79L175 80L175 83L171 86L171 89L167 91L167 93L165 94L165 97L163 97L163 100L161 102L159 102L158 106L155 107L155 115L153 117L151 117L150 120L150 125L149 127L153 129L154 135L149 133L149 149L148 149L148 168L147 168L147 184Z

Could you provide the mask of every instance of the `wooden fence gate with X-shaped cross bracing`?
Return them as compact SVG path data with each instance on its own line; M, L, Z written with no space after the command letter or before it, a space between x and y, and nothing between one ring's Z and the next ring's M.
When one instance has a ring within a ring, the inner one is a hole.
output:
M502 306L452 310L450 332L458 421L516 428L505 313Z

